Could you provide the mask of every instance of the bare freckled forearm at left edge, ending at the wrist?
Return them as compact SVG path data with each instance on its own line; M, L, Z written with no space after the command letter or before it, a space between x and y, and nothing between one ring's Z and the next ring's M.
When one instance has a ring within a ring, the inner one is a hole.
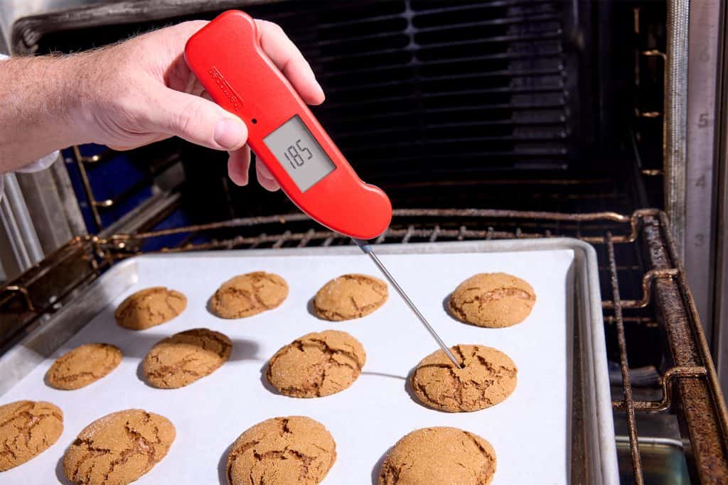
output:
M0 62L0 173L84 143L84 55Z

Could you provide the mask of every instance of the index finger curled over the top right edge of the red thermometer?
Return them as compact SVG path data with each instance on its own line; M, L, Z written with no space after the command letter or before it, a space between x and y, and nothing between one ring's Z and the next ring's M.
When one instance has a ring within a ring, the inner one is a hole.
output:
M301 51L298 50L283 29L275 23L266 20L256 20L258 31L261 33L261 47L268 57L279 68L290 84L296 88L298 94L309 105L323 103L323 89L316 81L314 71L306 62Z

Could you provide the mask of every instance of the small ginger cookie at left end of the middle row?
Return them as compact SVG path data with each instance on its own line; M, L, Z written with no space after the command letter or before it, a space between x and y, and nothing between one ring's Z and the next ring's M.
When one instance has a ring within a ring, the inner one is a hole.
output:
M55 359L46 372L52 388L80 389L96 382L116 369L122 361L122 351L108 343L79 345Z

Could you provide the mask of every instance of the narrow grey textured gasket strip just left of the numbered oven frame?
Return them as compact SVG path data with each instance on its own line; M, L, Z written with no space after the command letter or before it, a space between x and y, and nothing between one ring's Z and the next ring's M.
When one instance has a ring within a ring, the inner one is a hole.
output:
M685 224L685 156L687 137L687 82L689 0L668 0L665 117L662 159L665 167L665 211L681 256Z

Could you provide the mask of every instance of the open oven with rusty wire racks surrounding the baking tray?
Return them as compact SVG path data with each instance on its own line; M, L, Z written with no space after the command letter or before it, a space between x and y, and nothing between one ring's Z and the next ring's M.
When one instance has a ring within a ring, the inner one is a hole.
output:
M592 244L622 483L728 481L718 1L29 3L0 7L15 55L232 7L280 23L327 93L314 113L392 199L375 242ZM181 140L4 177L4 350L135 254L351 244Z

